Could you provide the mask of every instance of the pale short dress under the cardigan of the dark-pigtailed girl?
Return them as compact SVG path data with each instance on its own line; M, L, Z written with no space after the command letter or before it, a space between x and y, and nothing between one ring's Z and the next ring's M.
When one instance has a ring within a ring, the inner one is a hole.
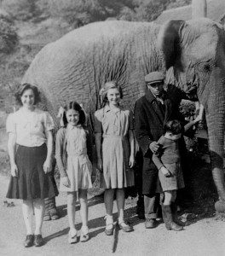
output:
M61 191L78 191L90 189L92 166L89 161L86 146L86 132L81 125L66 127L66 174L70 180L70 188L60 183Z

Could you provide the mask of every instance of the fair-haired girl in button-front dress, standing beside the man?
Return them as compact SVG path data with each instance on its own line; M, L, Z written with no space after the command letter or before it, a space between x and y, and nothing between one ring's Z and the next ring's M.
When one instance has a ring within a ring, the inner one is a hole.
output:
M105 189L107 236L113 235L113 197L116 193L118 225L125 232L133 227L124 221L124 188L134 184L133 117L119 106L122 90L111 81L100 91L103 108L95 112L95 145L98 168L103 172L101 187Z

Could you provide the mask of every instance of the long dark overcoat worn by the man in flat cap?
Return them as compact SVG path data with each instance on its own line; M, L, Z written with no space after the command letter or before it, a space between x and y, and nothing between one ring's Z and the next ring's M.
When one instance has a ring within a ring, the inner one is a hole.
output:
M158 170L153 164L153 153L149 144L158 141L164 134L164 124L170 119L176 119L176 111L172 102L164 92L164 108L150 90L136 101L135 106L135 134L136 140L143 154L142 193L155 195L159 191Z

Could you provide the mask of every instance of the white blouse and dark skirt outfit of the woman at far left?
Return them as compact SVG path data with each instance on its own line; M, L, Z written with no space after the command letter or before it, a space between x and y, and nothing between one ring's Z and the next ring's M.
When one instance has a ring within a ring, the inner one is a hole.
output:
M7 198L32 200L58 195L54 177L43 172L47 157L45 132L53 128L49 113L39 109L26 113L20 108L9 114L6 129L8 133L16 134L18 177L10 177Z

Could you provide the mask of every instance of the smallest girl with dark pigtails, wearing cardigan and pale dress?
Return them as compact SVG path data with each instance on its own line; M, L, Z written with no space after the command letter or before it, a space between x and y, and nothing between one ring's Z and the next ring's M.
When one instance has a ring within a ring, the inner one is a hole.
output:
M92 166L88 151L89 132L84 129L85 113L78 102L70 102L61 114L61 129L57 132L55 158L61 173L60 190L67 192L67 214L69 221L69 243L78 241L75 228L75 206L80 201L82 228L80 241L89 240L87 189L92 188Z

